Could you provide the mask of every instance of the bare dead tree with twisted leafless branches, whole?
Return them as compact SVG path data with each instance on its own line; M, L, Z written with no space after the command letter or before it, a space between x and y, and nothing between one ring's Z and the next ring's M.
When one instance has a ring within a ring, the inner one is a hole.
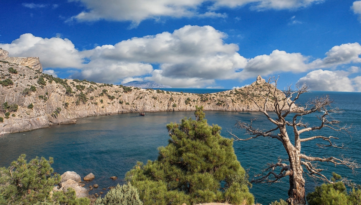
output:
M278 78L275 77L269 78L268 82L263 81L264 85L248 86L243 89L243 95L247 95L248 99L257 105L259 111L273 123L273 128L263 130L253 127L252 123L256 119L251 119L249 123L240 121L236 123L236 127L244 129L246 134L251 135L249 138L240 138L232 134L232 131L229 131L229 133L235 141L245 141L260 136L279 140L288 154L288 159L278 159L277 163L268 163L267 168L263 170L262 174L255 175L251 182L274 183L288 176L290 181L287 199L288 204L306 204L304 173L314 179L321 179L333 183L322 174L323 169L317 166L318 162L332 163L335 166L344 165L352 171L355 171L355 169L360 166L356 161L352 161L351 158L345 158L343 156L339 158L333 156L314 157L312 153L308 153L309 155L301 153L302 143L310 140L323 141L323 144L316 144L319 147L344 148L343 145L338 146L332 141L338 139L337 137L323 135L302 137L302 134L309 131L331 129L351 136L349 132L351 126L341 126L340 121L331 117L331 113L339 113L340 110L330 107L333 101L329 96L319 97L309 101L304 106L299 106L296 105L296 101L301 94L309 91L308 86L305 84L296 85L295 90L292 90L291 86L289 86L282 93L282 91L277 89L277 80ZM273 112L277 115L277 118L272 118L269 114L270 103L273 104ZM303 116L311 113L318 114L317 118L319 119L319 123L316 126L310 126L303 120ZM288 115L293 115L293 117L287 117ZM290 136L286 130L287 127L289 127L289 130L293 130L292 135L294 136L291 137L294 137L294 142L290 140Z

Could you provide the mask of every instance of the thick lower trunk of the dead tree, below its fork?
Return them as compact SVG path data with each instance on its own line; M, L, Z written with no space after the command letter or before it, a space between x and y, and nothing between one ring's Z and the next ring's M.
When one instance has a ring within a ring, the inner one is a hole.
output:
M288 205L306 204L305 180L300 162L300 152L293 148L287 152L290 159L292 174L290 175L290 189L288 190Z

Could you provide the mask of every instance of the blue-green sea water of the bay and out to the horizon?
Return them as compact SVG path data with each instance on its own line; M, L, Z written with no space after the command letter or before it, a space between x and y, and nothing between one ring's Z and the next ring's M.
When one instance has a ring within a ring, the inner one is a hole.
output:
M213 93L225 89L162 88L161 90ZM298 102L304 105L312 99L326 95L334 100L332 108L342 110L340 113L332 113L331 116L340 120L342 126L352 126L349 130L352 132L351 136L330 129L322 129L305 133L301 137L335 136L339 138L335 140L335 143L344 145L347 149L321 148L316 144L325 143L324 140L312 140L302 144L301 152L317 157L351 157L361 162L361 93L314 91L301 95ZM320 114L322 112L306 116L304 121L309 125L319 125L317 115ZM275 117L275 115L272 116ZM139 113L92 116L80 118L75 124L53 125L49 128L1 135L0 166L8 167L20 154L26 154L27 160L36 156L53 157L52 167L56 173L75 171L82 178L93 173L95 179L86 186L99 184L98 189L90 191L90 193L99 193L103 191L101 188L125 183L126 172L132 169L137 161L147 163L148 160L156 160L157 148L168 144L169 135L166 125L170 122L179 122L184 117L194 119L194 114L193 112L153 112L145 113L144 117L139 116ZM261 129L273 127L259 112L205 111L205 118L210 125L221 126L221 135L226 138L231 137L230 131L237 136L247 138L244 130L239 130L234 126L237 121L249 122L249 119L257 118L253 122L254 127ZM292 130L288 130L288 133L292 136ZM248 141L235 141L233 147L239 162L244 169L248 170L250 179L262 173L267 163L276 163L279 158L287 158L282 143L276 139L258 137ZM361 184L360 174L353 173L345 166L335 167L328 163L319 163L318 166L325 169L322 174L328 178L332 176L332 172L336 172L351 179L352 182ZM361 169L356 171L360 172ZM117 176L118 179L112 180L111 176ZM322 183L306 175L304 178L306 193L313 191L315 186ZM253 184L249 191L255 196L255 202L265 205L278 199L287 199L288 188L288 178L285 177L278 183Z

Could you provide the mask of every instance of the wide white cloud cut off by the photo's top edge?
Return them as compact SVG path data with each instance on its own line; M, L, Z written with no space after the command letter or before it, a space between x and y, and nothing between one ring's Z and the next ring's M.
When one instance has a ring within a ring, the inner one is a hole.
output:
M87 8L68 21L97 21L109 19L115 21L131 21L137 26L144 19L159 17L226 17L226 14L214 12L219 8L236 8L251 5L253 10L297 9L324 0L72 0L80 1ZM211 3L211 5L209 5ZM200 8L208 7L206 11Z

